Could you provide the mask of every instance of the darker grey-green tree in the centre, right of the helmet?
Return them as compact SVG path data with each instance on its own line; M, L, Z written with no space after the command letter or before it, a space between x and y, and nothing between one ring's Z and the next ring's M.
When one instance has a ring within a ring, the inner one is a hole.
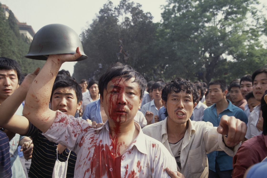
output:
M140 53L155 37L152 18L150 13L141 10L138 3L122 0L114 7L108 1L89 28L81 34L88 59L76 63L73 76L77 81L82 78L98 80L116 62L139 68ZM120 38L123 40L122 54L119 54Z

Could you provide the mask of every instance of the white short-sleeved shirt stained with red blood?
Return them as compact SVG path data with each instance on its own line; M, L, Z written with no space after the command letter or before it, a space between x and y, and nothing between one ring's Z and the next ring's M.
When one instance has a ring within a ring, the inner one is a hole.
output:
M135 127L139 134L122 155L121 177L170 177L165 168L177 171L174 157L162 143L145 135L136 122ZM54 123L43 135L77 154L74 177L115 177L116 142L108 122L94 129L83 119L57 111Z

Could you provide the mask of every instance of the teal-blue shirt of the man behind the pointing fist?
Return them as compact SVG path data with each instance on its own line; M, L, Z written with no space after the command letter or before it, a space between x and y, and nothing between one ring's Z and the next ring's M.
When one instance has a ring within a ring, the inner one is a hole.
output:
M217 117L217 110L216 110L216 103L209 106L204 111L203 121L211 122L213 126L218 126L223 115L227 116L234 116L235 118L240 119L241 121L248 123L248 118L245 112L238 108L237 106L233 105L231 101L229 102L227 108L219 113ZM209 161L209 169L216 172L215 170L215 161L217 161L220 171L227 171L233 169L233 157L228 156L224 151L214 151L207 154L208 161Z

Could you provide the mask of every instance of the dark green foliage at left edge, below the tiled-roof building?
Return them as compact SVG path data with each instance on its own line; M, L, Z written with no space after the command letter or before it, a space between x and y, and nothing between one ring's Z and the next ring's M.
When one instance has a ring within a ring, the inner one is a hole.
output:
M0 8L0 56L16 60L21 67L22 73L31 73L37 67L42 67L45 61L27 59L30 42L24 35L17 34L18 26L14 14L10 11L6 19L3 9Z

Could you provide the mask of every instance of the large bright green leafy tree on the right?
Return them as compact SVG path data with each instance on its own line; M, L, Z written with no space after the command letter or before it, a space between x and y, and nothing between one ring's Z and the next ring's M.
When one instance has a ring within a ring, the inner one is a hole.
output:
M258 52L266 54L260 41L266 19L257 4L256 0L169 0L159 41L167 41L176 56L164 65L172 74L204 82L231 80L261 67L266 56L256 58ZM254 60L257 65L247 65Z

